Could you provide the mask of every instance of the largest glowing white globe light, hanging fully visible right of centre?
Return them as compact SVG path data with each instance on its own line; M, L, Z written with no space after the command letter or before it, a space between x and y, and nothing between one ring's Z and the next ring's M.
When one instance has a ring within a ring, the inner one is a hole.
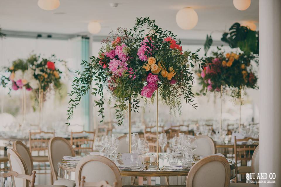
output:
M176 22L184 30L190 30L196 26L198 15L195 10L190 7L182 8L176 15Z

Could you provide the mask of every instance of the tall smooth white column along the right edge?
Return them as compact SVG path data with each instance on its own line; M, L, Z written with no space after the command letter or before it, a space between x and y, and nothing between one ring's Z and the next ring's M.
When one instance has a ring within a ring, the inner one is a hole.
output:
M281 186L281 0L259 1L260 171ZM268 179L269 180L269 179Z

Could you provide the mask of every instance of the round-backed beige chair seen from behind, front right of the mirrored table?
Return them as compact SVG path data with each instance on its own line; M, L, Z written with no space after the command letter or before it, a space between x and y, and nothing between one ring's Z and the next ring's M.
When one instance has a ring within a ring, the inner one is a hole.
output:
M191 167L186 178L186 187L228 187L229 181L228 161L224 157L210 155Z

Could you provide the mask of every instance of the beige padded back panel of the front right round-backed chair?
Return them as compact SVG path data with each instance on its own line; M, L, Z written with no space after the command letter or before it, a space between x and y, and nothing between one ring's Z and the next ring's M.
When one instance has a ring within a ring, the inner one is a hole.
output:
M225 175L225 167L221 162L208 162L198 169L193 177L192 186L224 187Z

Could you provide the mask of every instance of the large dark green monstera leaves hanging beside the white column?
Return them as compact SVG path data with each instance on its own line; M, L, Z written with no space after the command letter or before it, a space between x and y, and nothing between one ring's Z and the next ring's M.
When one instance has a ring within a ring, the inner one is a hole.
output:
M229 28L229 32L222 34L221 40L229 44L231 48L239 47L245 53L258 53L258 37L256 35L256 31L234 23Z

